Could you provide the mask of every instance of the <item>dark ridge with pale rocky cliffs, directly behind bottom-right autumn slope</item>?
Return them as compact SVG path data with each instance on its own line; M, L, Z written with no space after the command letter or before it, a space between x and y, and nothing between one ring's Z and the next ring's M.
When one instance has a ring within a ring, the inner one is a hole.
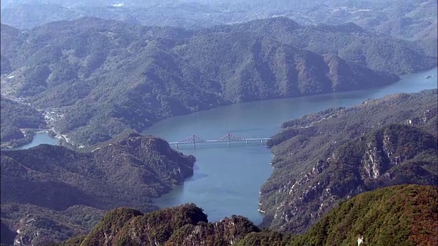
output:
M279 189L275 209L281 230L305 232L339 201L394 184L436 185L438 155L433 135L406 125L389 125L352 139L310 172ZM262 200L263 203L263 200Z

